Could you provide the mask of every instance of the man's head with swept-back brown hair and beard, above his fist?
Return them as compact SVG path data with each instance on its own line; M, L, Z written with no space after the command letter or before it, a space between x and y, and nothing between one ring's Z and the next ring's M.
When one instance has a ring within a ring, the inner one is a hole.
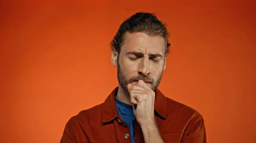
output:
M166 26L154 14L136 13L125 20L111 42L111 63L117 66L119 85L142 79L155 90L166 68L169 52Z

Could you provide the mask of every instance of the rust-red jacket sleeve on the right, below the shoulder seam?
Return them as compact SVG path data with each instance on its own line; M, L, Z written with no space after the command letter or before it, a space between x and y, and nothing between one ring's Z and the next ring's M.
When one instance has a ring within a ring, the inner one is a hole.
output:
M198 121L195 129L184 138L182 143L207 143L203 118Z

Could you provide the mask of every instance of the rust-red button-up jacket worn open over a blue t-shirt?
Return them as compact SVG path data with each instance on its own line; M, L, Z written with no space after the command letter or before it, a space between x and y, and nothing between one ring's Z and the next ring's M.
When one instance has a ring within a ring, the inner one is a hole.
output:
M115 104L118 87L104 103L79 112L67 122L61 143L131 143L128 126ZM203 117L195 110L155 90L155 115L165 143L206 143ZM140 125L134 122L135 143L144 143Z

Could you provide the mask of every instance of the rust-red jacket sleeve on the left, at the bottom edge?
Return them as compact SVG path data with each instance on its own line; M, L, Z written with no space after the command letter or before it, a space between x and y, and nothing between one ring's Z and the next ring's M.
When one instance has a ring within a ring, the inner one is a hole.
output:
M74 133L72 131L72 128L70 126L70 121L66 123L66 126L64 128L63 135L61 137L60 143L76 143L76 139L74 136Z

